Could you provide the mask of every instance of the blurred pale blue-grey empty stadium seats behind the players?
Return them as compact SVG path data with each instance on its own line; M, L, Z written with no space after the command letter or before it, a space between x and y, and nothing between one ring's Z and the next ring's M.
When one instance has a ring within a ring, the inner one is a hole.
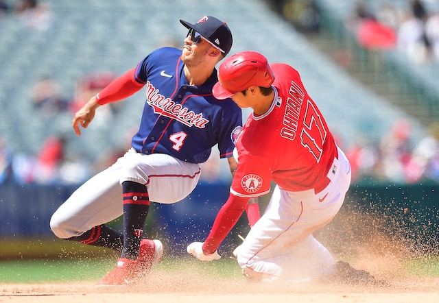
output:
M102 147L116 146L136 127L143 107L141 93L130 97L112 123L93 125L77 138L69 114L45 121L31 104L31 88L42 75L55 77L66 97L87 73L112 71L121 74L147 53L169 41L181 45L186 34L178 19L196 21L214 15L233 30L232 53L259 51L270 62L295 66L313 99L316 99L333 131L345 144L358 134L380 137L394 121L404 117L346 75L286 21L260 1L56 1L49 3L54 17L46 31L23 26L20 16L0 19L0 133L13 151L36 152L44 139L62 132L69 139L68 152L91 158ZM322 1L331 12L348 12L350 1ZM343 9L340 9L343 3ZM246 112L248 113L248 112ZM99 144L97 144L99 142ZM85 149L85 150L84 150Z

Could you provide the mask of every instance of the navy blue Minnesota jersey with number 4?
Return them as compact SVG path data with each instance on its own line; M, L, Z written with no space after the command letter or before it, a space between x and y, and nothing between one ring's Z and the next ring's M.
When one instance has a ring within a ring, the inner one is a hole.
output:
M145 84L146 102L132 147L143 154L169 154L202 163L218 144L221 158L232 156L242 125L241 109L232 99L213 97L216 70L202 86L189 86L181 53L163 47L137 66L135 77Z

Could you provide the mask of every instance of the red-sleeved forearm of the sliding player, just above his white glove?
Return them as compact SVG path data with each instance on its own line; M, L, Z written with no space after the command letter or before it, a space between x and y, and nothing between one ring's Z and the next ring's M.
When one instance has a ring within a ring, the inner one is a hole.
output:
M237 223L239 217L246 209L248 198L236 197L229 195L228 200L224 206L219 210L217 217L212 226L206 241L204 241L204 254L213 254L224 241L227 234Z

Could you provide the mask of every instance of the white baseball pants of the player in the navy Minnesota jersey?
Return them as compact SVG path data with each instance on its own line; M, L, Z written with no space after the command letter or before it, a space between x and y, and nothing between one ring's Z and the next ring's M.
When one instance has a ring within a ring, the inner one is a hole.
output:
M123 214L124 181L145 184L152 202L178 202L195 189L200 172L200 164L130 149L114 165L82 184L56 210L51 217L51 230L57 237L67 239L117 219Z

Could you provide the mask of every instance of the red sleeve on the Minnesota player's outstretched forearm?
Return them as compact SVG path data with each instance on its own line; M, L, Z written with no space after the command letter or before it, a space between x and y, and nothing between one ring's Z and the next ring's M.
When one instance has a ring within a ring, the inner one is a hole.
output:
M107 104L114 101L119 101L130 97L134 93L137 93L144 84L141 84L135 80L134 77L135 69L130 69L130 71L124 73L120 77L117 77L113 82L108 84L99 94L97 94L97 99L99 104Z

